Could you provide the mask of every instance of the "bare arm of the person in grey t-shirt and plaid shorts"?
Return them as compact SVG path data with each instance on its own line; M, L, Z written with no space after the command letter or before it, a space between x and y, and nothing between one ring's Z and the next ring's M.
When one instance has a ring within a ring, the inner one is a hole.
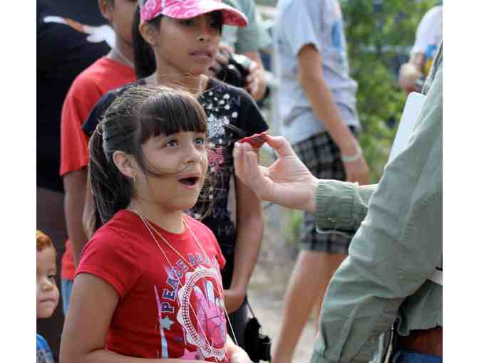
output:
M314 115L323 122L326 131L341 150L341 156L354 157L360 153L359 143L341 120L331 90L323 78L321 56L313 44L303 46L297 54L297 80L307 95ZM368 184L369 168L362 154L354 161L344 162L344 169L347 181Z

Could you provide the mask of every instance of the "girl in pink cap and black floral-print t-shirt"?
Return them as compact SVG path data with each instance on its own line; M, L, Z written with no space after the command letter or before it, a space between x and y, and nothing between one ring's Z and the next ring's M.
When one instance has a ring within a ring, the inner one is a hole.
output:
M210 179L215 184L200 196L200 202L190 214L201 218L205 211L209 212L202 222L215 233L226 259L227 267L222 270L222 278L227 290L223 296L227 312L239 311L232 317L232 324L238 327L235 335L241 344L247 320L244 296L262 240L262 208L254 193L235 179L232 146L239 137L267 130L267 124L246 91L203 75L215 58L223 23L244 26L246 19L242 13L221 1L140 1L133 22L135 71L139 78L135 84L185 88L197 95L207 114L207 139L212 143L208 154ZM91 134L98 123L98 116L130 87L128 85L103 96L83 125L83 130ZM171 298L168 294L160 295L158 303L163 306ZM174 298L177 299L178 294ZM134 320L134 317L131 318ZM152 321L155 321L154 317ZM158 324L150 329L157 327ZM152 331L152 334L157 332ZM163 342L158 340L158 351L148 357L170 357L163 347ZM238 357L243 356L239 354ZM223 362L216 357L206 360Z

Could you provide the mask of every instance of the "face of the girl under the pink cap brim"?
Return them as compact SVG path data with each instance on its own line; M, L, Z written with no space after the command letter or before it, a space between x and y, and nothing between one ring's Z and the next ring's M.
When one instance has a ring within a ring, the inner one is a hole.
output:
M191 19L163 16L153 44L158 72L205 73L216 57L220 37L221 24L211 13Z

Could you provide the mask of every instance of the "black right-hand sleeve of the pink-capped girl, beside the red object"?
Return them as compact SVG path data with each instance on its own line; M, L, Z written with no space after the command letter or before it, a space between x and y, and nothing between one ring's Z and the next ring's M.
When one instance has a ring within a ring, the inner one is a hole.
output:
M247 136L259 134L269 129L264 117L253 98L245 90L237 88L240 93L237 127L244 130Z

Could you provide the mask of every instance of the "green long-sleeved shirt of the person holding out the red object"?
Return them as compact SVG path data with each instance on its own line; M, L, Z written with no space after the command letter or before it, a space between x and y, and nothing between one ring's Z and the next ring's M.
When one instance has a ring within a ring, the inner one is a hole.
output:
M316 227L354 235L326 292L311 362L369 362L378 337L443 325L443 288L427 280L443 253L443 47L408 147L379 184L321 181Z

